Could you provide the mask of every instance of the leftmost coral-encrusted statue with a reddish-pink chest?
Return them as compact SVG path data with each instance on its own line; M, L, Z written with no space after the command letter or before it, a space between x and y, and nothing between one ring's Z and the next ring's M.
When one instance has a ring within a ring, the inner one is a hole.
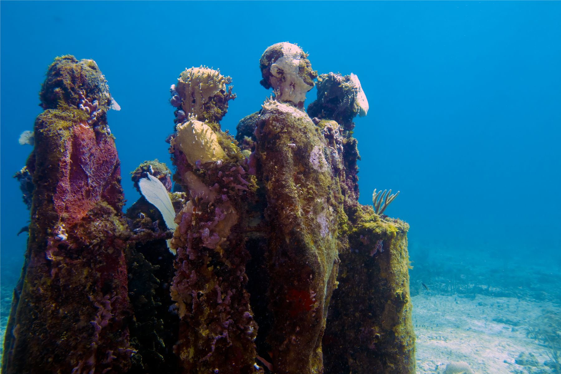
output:
M25 266L2 372L125 372L132 349L112 99L93 60L57 57L40 92Z

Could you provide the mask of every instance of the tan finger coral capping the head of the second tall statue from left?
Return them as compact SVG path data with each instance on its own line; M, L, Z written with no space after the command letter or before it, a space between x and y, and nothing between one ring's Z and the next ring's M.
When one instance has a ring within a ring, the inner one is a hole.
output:
M185 69L177 79L177 93L181 96L183 111L200 117L206 101L219 91L226 92L226 85L231 82L231 77L224 77L219 70L206 66Z

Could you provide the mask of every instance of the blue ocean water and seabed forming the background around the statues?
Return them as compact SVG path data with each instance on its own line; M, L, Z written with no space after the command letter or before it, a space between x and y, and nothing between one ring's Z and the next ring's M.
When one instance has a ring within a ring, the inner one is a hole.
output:
M232 77L237 98L221 124L235 133L270 94L261 53L290 41L318 73L355 73L369 101L355 119L360 202L371 204L374 188L401 191L385 213L411 225L417 371L465 361L525 372L519 354L531 353L555 372L546 364L555 348L526 332L528 313L561 321L560 19L561 2L1 1L2 334L26 247L17 233L29 221L12 176L31 147L18 138L42 111L53 58L91 58L104 73L122 108L108 122L130 206L139 194L129 172L155 158L171 166L164 140L179 73L204 64ZM306 106L315 98L313 89ZM500 312L501 303L518 307ZM483 327L463 327L466 318ZM458 348L502 337L527 345L489 357Z

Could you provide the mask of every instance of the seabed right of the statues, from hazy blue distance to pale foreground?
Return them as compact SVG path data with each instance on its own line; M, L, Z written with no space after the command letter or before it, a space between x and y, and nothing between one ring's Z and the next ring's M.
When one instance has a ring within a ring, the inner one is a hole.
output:
M544 365L551 350L527 335L530 327L549 326L561 346L560 259L485 252L463 258L452 250L411 252L417 374L442 374L460 361L476 374L554 373ZM544 313L555 316L553 324Z

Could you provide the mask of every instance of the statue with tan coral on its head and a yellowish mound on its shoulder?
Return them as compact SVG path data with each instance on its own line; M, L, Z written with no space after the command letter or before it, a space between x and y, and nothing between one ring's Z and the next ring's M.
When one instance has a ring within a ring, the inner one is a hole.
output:
M243 233L247 201L256 190L247 158L218 121L234 98L231 79L206 67L191 68L172 86L176 133L174 180L186 191L176 217L177 251L171 286L180 318L174 351L181 373L255 373L255 336L245 273L249 253Z

